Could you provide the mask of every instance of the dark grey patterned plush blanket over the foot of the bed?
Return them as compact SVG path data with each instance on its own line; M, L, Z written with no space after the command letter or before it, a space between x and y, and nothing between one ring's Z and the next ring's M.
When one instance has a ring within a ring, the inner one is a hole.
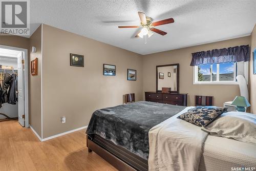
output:
M88 125L87 134L97 134L147 160L148 131L185 109L162 103L139 101L97 110Z

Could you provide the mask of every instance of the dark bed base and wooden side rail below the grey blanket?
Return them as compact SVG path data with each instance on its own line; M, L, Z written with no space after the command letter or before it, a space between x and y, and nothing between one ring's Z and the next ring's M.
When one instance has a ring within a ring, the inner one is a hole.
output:
M118 170L148 170L147 160L98 135L87 135L87 147L89 153L95 152Z

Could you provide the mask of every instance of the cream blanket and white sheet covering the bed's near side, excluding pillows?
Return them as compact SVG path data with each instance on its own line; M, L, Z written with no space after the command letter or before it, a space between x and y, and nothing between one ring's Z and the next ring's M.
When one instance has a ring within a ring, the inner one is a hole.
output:
M256 146L233 139L207 135L200 126L177 116L154 126L149 134L149 170L231 170L256 167Z

